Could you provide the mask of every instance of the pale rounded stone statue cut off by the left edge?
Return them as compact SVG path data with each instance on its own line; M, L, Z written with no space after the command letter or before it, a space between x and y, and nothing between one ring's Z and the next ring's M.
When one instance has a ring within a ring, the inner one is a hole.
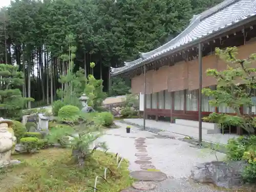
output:
M12 149L16 143L14 133L9 131L11 125L12 120L0 118L0 167L18 162L11 160Z

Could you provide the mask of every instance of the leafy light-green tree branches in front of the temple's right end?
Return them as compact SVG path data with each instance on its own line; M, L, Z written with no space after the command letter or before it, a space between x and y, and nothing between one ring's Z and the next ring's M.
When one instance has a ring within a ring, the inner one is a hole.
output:
M256 89L256 72L251 67L251 62L256 60L256 54L251 54L248 58L237 59L237 48L231 47L221 50L216 49L216 54L229 63L226 70L207 70L207 75L217 79L216 90L205 88L202 93L214 99L210 100L212 106L228 106L237 114L236 117L225 116L222 123L239 123L243 129L249 133L254 133L253 117L251 116L251 96ZM245 117L240 113L240 106L249 107L249 116Z

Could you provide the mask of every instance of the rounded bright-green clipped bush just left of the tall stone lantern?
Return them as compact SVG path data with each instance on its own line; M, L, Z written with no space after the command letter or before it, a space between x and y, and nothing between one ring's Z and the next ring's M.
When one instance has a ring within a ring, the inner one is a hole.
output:
M77 106L66 105L60 108L58 117L61 121L76 121L80 116L80 110Z

